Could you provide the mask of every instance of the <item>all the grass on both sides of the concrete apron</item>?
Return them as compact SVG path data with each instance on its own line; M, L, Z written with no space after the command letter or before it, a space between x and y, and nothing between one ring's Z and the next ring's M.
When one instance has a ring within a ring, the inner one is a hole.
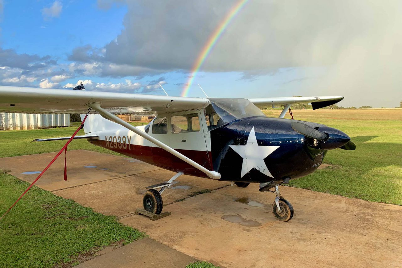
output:
M265 110L277 117L279 110ZM334 166L291 181L290 186L363 200L402 205L402 109L294 110L295 119L338 128L351 136L357 150L330 150L324 163ZM288 118L289 115L286 116ZM31 142L35 138L69 136L79 126L44 130L0 131L0 157L58 151L65 141ZM83 135L82 130L78 135ZM69 150L115 154L86 140ZM27 188L27 183L0 174L0 213ZM72 200L33 187L0 221L0 267L74 264L74 256L144 234L110 216L95 213ZM213 267L199 262L189 267Z

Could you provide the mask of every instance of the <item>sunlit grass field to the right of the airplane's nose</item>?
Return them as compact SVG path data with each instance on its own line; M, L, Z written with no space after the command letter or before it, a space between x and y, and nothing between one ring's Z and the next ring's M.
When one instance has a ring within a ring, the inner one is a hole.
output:
M402 205L402 110L296 110L293 115L344 131L357 148L328 151L324 163L334 167L291 180L290 186Z

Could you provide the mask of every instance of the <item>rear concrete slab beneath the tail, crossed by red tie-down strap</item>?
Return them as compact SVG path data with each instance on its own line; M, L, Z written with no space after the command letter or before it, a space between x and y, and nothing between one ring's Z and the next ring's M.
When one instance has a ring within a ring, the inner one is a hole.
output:
M0 169L9 169L11 170L10 174L32 182L37 175L21 173L26 171L39 171L40 173L55 155L56 153L45 153L0 158ZM88 159L90 159L90 162ZM97 166L98 168L84 168L84 166ZM105 168L108 169L107 172L100 170ZM67 181L63 180L64 156L61 155L35 185L45 190L55 191L158 169L158 167L141 161L128 163L124 157L115 155L106 155L87 150L72 150L67 151Z

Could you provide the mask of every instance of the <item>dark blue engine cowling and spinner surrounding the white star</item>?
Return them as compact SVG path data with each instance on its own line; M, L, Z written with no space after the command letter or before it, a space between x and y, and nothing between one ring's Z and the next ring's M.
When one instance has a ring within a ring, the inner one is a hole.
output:
M315 171L328 149L350 140L345 133L322 124L303 122L329 134L326 142L314 144L310 138L292 129L293 120L256 116L226 123L211 130L213 168L224 181L267 182L299 178ZM273 177L252 168L241 177L243 159L230 145L246 145L252 128L258 146L279 146L264 159Z

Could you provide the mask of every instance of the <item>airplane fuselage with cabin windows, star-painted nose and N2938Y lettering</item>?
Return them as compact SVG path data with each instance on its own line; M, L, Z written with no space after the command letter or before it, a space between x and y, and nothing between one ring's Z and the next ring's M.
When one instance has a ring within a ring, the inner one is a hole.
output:
M329 149L350 140L340 130L322 124L267 118L250 101L211 100L205 109L159 114L137 129L206 169L217 171L220 180L235 182L281 184L283 180L303 177L320 166ZM92 144L164 169L209 178L142 136L97 116L88 118L90 130L98 130L90 133L99 135L89 139ZM328 138L309 138L294 130L292 122L302 123Z

